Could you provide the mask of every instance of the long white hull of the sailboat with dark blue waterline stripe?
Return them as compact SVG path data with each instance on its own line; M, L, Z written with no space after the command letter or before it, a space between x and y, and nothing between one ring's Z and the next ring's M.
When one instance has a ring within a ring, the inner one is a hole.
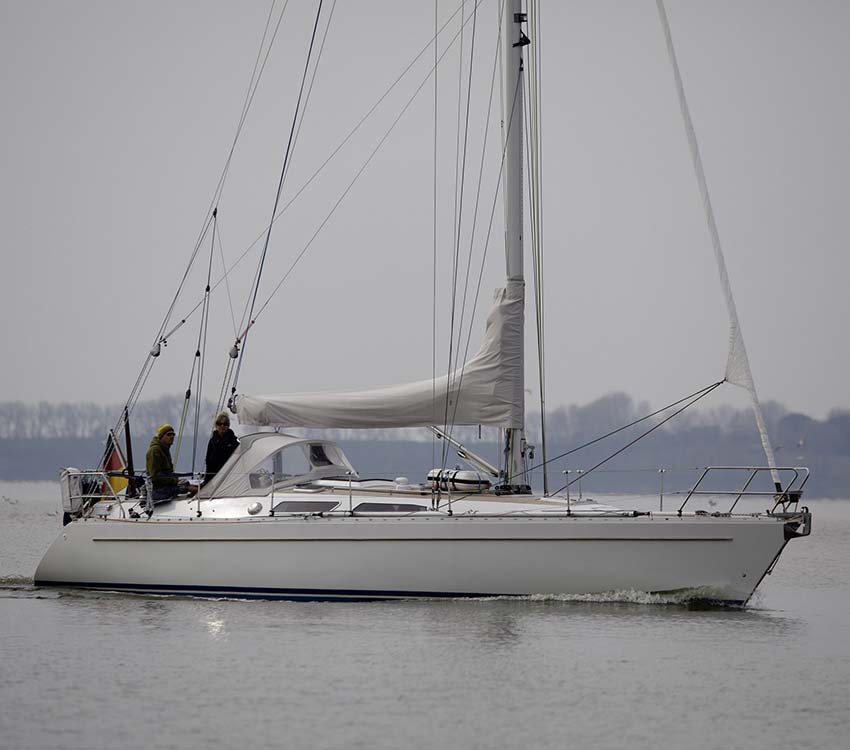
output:
M745 603L785 543L770 516L78 520L38 585L282 599L693 591Z

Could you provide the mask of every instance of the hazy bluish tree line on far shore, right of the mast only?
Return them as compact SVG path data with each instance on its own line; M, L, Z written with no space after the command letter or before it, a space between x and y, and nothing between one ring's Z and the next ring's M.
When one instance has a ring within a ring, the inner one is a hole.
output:
M635 403L624 393L609 394L584 406L555 409L546 418L547 457L551 461L651 411L648 404ZM811 469L806 487L809 496L850 499L850 410L834 409L826 419L817 420L789 412L771 401L763 405L763 411L777 464ZM529 416L531 424L535 423L535 417L539 420L539 415ZM565 469L586 470L604 461L664 417L665 414L658 415L552 461L550 475ZM648 471L651 474L645 480L648 488L658 483L655 471L665 468L670 472L668 481L673 484L677 481L676 471L680 471L678 481L684 487L693 481L694 470L701 467L764 466L765 463L752 411L724 405L683 412L606 462L585 484L600 490L626 490L627 482L633 483L633 479L626 479L629 472Z

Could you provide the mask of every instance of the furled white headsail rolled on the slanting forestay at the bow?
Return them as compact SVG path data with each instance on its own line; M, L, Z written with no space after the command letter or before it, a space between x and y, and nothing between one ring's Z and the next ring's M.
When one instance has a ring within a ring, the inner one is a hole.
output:
M670 32L670 23L667 20L667 11L664 8L664 0L656 0L656 5L658 7L658 16L661 20L661 28L664 31L664 39L667 42L667 53L670 57L670 65L673 68L676 94L679 98L679 109L682 113L682 121L685 126L685 133L688 137L691 159L693 161L694 171L696 172L700 196L702 197L705 218L708 222L708 231L711 235L711 245L714 249L715 260L717 261L717 270L720 274L720 286L723 288L723 296L726 300L726 310L729 314L729 353L726 360L726 380L729 383L733 383L734 385L744 388L750 394L753 413L755 414L756 419L756 426L758 427L762 448L764 449L764 454L767 458L767 465L770 467L771 477L773 478L777 491L781 491L782 486L779 481L779 472L776 470L776 459L773 456L773 449L770 446L770 438L767 434L764 414L762 413L761 403L759 402L758 393L756 392L753 373L750 369L749 358L747 357L747 349L744 346L744 335L741 332L741 324L738 321L738 312L735 307L735 300L732 296L732 285L729 282L729 273L726 270L726 260L723 256L723 248L720 245L720 234L717 231L717 223L714 219L714 209L712 208L711 197L708 193L708 183L705 179L705 171L702 166L702 157L700 156L696 131L694 130L693 121L691 120L688 101L685 97L685 87L682 83L682 75L679 72L676 50L673 47L673 36Z

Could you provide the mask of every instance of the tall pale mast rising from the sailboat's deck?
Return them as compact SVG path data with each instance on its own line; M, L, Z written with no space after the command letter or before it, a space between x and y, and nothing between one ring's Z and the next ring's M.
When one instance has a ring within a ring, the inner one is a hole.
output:
M522 24L522 0L505 0L502 25L502 69L504 76L504 107L502 133L505 142L504 200L505 200L505 263L508 288L519 287L524 293L522 249L522 122L523 122L523 61L522 48L529 43ZM524 328L524 326L523 326ZM524 357L524 347L520 349ZM524 373L524 368L523 368ZM520 378L518 399L525 399L524 374ZM517 491L517 485L526 485L523 476L525 409L519 427L505 430L505 481Z

